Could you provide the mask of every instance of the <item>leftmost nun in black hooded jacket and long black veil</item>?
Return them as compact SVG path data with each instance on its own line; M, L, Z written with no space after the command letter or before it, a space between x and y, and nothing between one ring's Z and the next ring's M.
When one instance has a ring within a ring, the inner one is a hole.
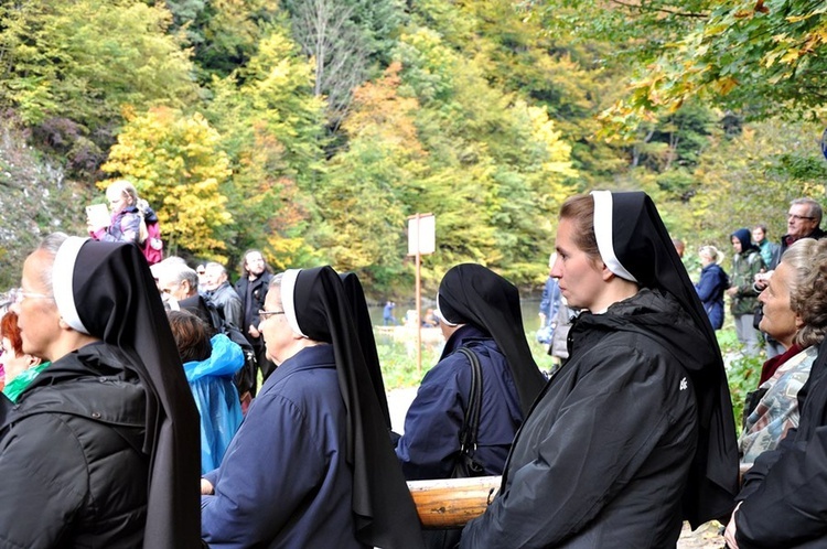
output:
M0 417L0 545L200 547L198 415L141 251L55 233L21 284L52 364Z

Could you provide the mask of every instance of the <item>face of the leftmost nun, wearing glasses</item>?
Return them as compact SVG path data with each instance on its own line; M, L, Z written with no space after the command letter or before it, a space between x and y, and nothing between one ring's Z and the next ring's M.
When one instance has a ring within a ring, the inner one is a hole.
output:
M47 295L49 289L41 274L52 269L51 256L42 250L34 251L23 263L21 287L32 295ZM52 359L51 346L61 336L61 315L54 298L30 297L17 304L18 325L23 340L23 353Z

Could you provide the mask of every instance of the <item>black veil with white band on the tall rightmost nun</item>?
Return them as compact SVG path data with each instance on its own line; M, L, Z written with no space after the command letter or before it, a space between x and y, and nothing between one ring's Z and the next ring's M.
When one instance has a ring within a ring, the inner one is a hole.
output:
M672 294L713 351L713 362L689 372L698 399L699 433L685 514L697 527L729 513L738 494L735 423L718 340L652 198L643 192L595 191L592 196L594 233L610 270L629 278L612 269L614 258L619 270L625 270L641 287Z

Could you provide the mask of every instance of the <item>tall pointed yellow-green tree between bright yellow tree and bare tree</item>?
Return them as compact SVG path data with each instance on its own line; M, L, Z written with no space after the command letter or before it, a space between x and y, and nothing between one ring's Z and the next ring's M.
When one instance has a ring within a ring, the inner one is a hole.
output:
M312 66L281 25L269 28L244 67L213 80L206 116L234 173L224 194L236 254L258 246L275 265L320 260L313 243L324 227L314 223L313 193L324 168L324 103L312 85Z

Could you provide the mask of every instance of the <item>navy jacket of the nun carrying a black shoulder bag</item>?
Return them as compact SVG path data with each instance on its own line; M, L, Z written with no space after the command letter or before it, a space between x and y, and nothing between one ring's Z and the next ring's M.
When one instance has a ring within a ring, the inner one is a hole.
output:
M465 325L445 343L437 366L425 375L405 418L405 433L396 455L409 481L448 478L460 451L460 430L471 389L471 364L459 347L480 358L483 406L475 459L485 474L503 473L514 435L523 421L519 397L508 364L496 343L474 326Z

